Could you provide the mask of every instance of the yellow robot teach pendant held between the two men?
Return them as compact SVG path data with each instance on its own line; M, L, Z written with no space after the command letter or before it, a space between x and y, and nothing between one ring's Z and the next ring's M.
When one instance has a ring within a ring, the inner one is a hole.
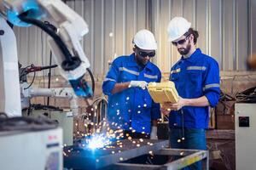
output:
M155 103L177 103L178 94L174 82L149 82L148 92Z

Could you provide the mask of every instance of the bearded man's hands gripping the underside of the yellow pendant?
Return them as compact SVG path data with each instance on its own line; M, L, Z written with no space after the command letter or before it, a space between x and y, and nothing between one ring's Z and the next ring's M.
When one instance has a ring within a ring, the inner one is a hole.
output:
M179 97L177 103L171 103L171 102L166 102L163 105L163 108L161 108L161 111L166 115L168 114L170 111L178 111L180 110L183 106L186 105L186 101L187 99L183 99L181 97ZM168 113L167 113L168 112Z

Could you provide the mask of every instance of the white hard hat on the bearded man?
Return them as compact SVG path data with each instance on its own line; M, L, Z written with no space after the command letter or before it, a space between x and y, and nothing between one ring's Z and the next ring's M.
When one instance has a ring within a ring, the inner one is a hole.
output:
M168 25L168 41L172 42L189 31L191 23L183 17L174 17Z

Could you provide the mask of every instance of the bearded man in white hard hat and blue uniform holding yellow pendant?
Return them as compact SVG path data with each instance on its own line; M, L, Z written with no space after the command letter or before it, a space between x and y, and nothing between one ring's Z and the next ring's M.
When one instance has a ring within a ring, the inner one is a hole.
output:
M167 31L168 40L181 54L170 74L180 99L161 108L169 115L171 147L207 150L205 129L208 128L209 107L218 104L220 94L218 62L195 47L199 33L191 28L188 20L173 18ZM201 162L189 168L201 169Z

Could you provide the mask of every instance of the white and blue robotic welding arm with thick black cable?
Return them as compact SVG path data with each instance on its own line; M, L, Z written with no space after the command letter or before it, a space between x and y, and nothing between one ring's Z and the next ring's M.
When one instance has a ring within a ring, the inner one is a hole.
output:
M61 68L61 76L71 83L76 95L82 97L92 95L91 88L83 79L86 71L90 71L90 63L80 43L82 37L88 32L88 26L79 14L75 13L65 3L62 3L61 0L0 0L0 10L2 17L15 26L34 25L47 32L49 34L49 46L55 56L56 63ZM52 23L57 31L54 31L50 26L46 26L41 20ZM15 50L15 48L12 50ZM2 50L6 51L4 48ZM17 59L7 63L4 61L7 56L4 56L3 53L1 55L3 55L1 62L5 63L3 69L14 66ZM9 76L5 74L5 77ZM6 90L7 85L4 86L2 89L0 87L0 91ZM1 110L8 112L6 109L1 108ZM12 113L11 115L15 114ZM18 115L21 115L21 113L18 113Z

